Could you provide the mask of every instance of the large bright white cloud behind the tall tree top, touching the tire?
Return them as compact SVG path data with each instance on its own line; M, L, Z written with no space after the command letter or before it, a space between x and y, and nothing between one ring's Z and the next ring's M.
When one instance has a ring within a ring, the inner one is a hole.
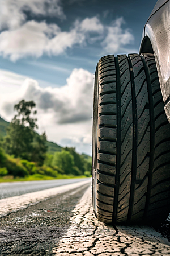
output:
M92 73L74 69L61 88L41 88L36 80L25 79L22 86L8 97L1 98L1 113L14 115L13 107L19 100L33 100L40 113L50 113L52 121L59 124L78 123L91 119Z

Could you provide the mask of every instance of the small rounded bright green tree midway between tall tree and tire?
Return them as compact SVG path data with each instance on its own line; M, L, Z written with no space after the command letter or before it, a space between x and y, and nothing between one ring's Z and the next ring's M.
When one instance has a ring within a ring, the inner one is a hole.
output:
M52 166L58 166L65 174L73 174L74 157L69 151L62 150L54 154Z

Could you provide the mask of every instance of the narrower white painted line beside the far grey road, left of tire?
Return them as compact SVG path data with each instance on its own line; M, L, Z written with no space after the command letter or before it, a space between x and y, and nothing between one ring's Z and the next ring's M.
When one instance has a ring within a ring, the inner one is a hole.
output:
M90 184L91 180L80 181L69 185L63 185L56 188L44 189L37 192L26 193L20 196L7 197L0 200L0 217L6 216L10 212L28 207L28 205L38 203L41 200L47 199L60 193L70 191L85 184Z

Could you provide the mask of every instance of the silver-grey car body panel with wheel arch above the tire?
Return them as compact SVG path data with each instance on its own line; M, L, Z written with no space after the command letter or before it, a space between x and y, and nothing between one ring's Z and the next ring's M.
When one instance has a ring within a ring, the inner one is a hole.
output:
M170 1L159 0L143 29L141 53L154 53L165 113L170 122Z

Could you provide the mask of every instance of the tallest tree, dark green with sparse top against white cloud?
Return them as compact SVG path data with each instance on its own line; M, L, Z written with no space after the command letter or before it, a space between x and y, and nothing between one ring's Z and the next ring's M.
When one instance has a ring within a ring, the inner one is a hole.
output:
M37 113L36 110L33 110L35 107L35 102L25 100L14 106L14 110L18 113L7 127L4 147L6 152L14 155L15 158L35 161L41 165L47 151L46 134L36 133L37 119L33 118L33 115Z

